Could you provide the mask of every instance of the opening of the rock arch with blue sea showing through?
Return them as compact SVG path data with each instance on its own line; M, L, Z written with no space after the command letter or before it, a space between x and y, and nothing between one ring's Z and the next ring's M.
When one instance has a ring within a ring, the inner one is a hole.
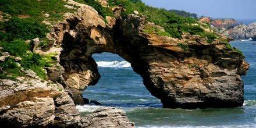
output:
M101 78L95 86L88 86L83 97L104 106L161 107L159 99L145 88L141 76L129 62L119 55L103 52L93 54Z

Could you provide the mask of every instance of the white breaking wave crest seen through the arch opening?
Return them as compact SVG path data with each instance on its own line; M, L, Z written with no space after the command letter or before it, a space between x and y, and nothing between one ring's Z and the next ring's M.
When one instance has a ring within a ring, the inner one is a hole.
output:
M99 61L96 62L98 67L131 67L131 64L127 61Z

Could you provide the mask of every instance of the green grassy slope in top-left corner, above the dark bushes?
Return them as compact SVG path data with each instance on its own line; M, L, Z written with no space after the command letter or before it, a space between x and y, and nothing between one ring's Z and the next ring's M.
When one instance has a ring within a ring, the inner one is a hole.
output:
M72 12L72 9L63 7L65 1L61 0L0 0L0 10L11 16L27 16L36 21L44 20L44 14L48 13L49 20L61 20L62 15Z

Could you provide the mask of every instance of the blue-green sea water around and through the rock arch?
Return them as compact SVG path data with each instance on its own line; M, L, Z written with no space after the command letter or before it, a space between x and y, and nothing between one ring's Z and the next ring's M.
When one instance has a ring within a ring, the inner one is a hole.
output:
M83 96L102 105L77 106L83 115L104 106L115 106L126 111L137 127L256 127L256 42L233 41L250 63L244 81L245 102L238 108L163 109L159 99L153 97L136 74L120 56L94 54L101 79L89 86Z

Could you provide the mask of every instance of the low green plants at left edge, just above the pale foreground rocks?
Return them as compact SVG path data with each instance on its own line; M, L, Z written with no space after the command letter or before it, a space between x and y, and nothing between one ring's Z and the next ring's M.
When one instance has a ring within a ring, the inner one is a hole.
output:
M10 55L20 56L22 58L20 65L24 67L24 69L33 70L41 79L47 79L44 68L52 66L55 63L54 54L43 56L30 52L30 45L22 40L10 42L0 41L0 46L3 48L2 52L9 52ZM15 79L17 76L23 75L23 73L20 72L21 67L17 66L13 58L7 58L5 62L0 62L0 67L6 72L0 74L2 79Z

